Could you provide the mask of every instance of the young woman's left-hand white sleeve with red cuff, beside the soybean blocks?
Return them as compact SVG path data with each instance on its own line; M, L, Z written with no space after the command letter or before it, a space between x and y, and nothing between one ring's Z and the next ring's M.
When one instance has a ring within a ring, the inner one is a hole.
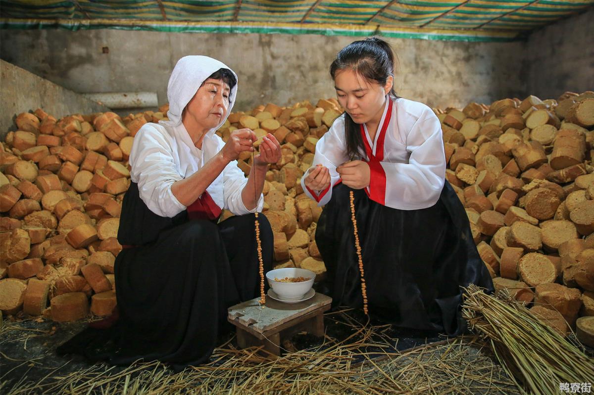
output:
M340 180L340 174L337 173L336 168L348 160L346 155L346 141L345 141L345 117L338 117L330 130L322 136L322 138L315 145L315 155L312 165L322 164L330 171L330 185L324 190L312 190L305 186L305 178L309 174L308 171L301 177L301 187L305 195L318 202L318 206L326 205L330 202L332 197L332 188Z

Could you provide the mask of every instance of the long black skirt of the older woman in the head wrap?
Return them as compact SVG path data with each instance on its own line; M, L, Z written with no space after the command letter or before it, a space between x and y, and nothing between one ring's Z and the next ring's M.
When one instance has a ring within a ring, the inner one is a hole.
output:
M258 216L264 270L270 270L273 234ZM115 261L119 318L108 329L88 328L58 348L90 361L128 365L137 359L174 368L208 361L226 323L227 309L260 289L255 215L226 221L153 214L132 183L122 203L118 241L135 247Z

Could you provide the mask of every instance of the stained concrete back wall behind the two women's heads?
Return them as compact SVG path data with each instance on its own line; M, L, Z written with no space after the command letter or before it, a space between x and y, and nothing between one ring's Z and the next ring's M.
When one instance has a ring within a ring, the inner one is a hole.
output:
M220 59L239 76L236 109L271 101L334 97L328 75L352 37L290 34L160 33L124 30L0 30L0 56L79 93L156 91L166 103L169 75L185 55ZM431 106L490 103L522 93L522 43L390 40L400 59L399 95ZM108 47L109 53L102 48Z

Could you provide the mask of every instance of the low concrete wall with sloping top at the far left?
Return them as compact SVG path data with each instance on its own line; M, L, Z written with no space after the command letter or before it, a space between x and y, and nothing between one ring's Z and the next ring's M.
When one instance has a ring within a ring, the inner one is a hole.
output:
M0 60L0 140L16 130L14 119L20 113L43 109L55 117L90 114L109 110L105 106L37 77L29 71Z

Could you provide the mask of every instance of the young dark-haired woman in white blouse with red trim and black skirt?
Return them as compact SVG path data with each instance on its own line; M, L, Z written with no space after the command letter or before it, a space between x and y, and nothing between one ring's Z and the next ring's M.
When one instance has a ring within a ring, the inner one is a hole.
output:
M462 203L445 180L440 121L397 97L390 46L373 37L338 53L330 75L345 113L315 147L302 186L326 205L315 240L333 304L362 306L349 192L369 313L397 326L458 335L462 289L492 291Z

